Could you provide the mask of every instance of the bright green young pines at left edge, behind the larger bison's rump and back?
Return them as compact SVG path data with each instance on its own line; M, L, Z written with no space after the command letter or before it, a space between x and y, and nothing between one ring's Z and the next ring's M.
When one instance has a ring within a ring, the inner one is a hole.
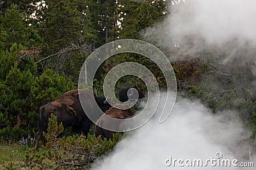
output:
M38 77L36 57L38 53L35 49L26 51L26 48L16 43L10 50L1 52L1 136L20 139L33 134L37 127L38 108L74 89L74 84L67 76L49 69Z

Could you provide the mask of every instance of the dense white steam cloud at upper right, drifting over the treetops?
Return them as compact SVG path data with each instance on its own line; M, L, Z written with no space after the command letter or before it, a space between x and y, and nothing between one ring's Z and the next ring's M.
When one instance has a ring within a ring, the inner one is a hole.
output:
M141 36L167 50L180 47L189 56L205 48L218 48L229 53L223 62L239 57L255 61L255 6L253 0L187 0L170 4L168 17ZM241 48L250 48L250 52L241 53Z

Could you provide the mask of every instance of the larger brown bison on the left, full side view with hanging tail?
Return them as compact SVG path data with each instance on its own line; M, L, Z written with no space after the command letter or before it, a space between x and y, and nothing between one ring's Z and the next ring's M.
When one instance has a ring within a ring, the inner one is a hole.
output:
M84 113L79 97L82 99L84 106L86 106L86 112L95 113L100 110L105 112L110 108L110 105L105 102L105 97L96 96L91 90L81 89L66 92L62 96L57 97L52 103L40 107L36 149L43 132L47 131L48 119L52 113L56 115L58 123L62 122L63 127L71 126L72 131L78 134L83 133L87 136L92 122ZM96 103L93 101L94 99ZM97 105L100 110L97 109Z

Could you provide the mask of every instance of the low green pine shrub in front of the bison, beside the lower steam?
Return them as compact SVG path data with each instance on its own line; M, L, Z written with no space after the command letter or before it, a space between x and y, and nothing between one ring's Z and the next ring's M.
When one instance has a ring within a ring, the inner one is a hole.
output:
M49 119L47 133L44 133L47 144L43 152L36 152L35 148L26 152L26 166L37 169L86 169L100 155L109 152L120 140L116 134L113 140L102 140L100 136L88 134L88 138L74 135L58 138L63 132L63 125L57 123L55 115Z

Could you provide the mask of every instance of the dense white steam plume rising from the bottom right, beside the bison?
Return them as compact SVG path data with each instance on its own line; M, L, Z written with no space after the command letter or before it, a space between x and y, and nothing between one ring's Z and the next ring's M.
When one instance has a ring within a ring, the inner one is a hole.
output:
M165 166L169 159L216 159L216 152L223 159L244 161L248 158L246 145L239 146L248 134L230 111L212 115L198 102L178 101L172 115L159 124L156 112L150 122L131 132L115 146L114 152L99 159L94 169L198 169L198 167ZM248 162L248 160L247 160ZM226 169L227 167L204 167ZM236 169L229 167L227 169Z

